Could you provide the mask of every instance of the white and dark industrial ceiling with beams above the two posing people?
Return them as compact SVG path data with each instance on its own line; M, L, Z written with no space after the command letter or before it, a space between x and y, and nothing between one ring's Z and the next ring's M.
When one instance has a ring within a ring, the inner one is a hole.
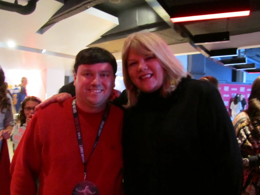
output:
M169 15L187 7L197 10L198 4L206 9L226 1L18 0L18 4L14 1L0 1L0 64L3 68L51 68L71 72L75 55L93 46L107 49L120 60L123 41L137 31L155 32L176 55L202 53L209 57L211 50L238 48L241 55L252 59L251 63L255 62L260 68L259 0L248 1L249 16L182 23L170 22ZM229 42L194 44L194 35L225 31L229 31ZM9 40L16 43L14 48L8 47ZM42 49L47 51L41 53ZM222 64L220 59L213 60Z

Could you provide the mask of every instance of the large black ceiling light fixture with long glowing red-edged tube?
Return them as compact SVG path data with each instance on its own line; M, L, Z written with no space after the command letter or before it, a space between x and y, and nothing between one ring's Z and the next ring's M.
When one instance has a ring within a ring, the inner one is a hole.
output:
M168 12L174 23L248 16L250 7L248 0L219 0L171 6Z

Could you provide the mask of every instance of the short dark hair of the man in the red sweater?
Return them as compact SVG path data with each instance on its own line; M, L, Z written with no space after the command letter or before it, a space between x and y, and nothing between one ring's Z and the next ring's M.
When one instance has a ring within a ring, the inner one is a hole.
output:
M81 50L75 59L74 72L77 73L78 67L81 64L96 64L108 62L113 68L113 73L115 75L117 70L117 64L115 57L107 50L99 47L90 47Z

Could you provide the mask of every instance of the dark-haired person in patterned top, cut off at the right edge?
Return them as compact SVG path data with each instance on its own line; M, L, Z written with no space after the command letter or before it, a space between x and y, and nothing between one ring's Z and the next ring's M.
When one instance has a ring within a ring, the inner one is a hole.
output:
M244 165L243 195L260 194L260 76L252 84L248 109L233 120Z

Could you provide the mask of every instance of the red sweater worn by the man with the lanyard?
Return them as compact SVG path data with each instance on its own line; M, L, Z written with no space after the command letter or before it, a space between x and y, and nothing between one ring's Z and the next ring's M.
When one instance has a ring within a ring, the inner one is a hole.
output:
M22 137L11 163L11 194L72 194L84 180L72 113L72 99L38 110ZM89 158L103 112L86 113L77 108L87 164L87 180L100 195L122 194L121 128L123 112L111 105L99 142Z

